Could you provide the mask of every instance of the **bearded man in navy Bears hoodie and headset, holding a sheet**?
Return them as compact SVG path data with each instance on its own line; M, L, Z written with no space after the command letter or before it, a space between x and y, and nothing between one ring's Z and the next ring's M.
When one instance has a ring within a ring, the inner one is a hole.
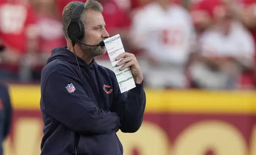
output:
M116 132L136 132L143 120L146 98L142 72L133 54L119 55L116 60L124 59L117 66L125 63L120 70L130 67L136 83L128 93L120 93L114 72L94 60L105 54L105 47L76 43L73 49L68 26L73 10L80 6L84 25L80 42L95 45L109 37L99 2L74 1L64 8L62 26L67 47L53 49L42 70L41 155L122 155Z

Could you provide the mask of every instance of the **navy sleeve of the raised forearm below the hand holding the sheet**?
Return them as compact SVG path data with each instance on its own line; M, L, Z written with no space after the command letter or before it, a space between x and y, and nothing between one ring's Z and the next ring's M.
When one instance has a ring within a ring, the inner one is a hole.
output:
M119 88L118 88L119 89ZM146 106L144 86L136 84L128 93L121 93L120 89L116 96L111 111L118 113L120 117L120 130L122 132L136 132L142 125Z

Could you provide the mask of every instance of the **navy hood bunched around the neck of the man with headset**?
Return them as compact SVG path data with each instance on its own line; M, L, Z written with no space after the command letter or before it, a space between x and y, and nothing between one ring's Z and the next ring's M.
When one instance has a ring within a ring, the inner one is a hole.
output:
M76 61L76 57L78 59L78 62ZM72 51L68 50L66 46L52 49L51 55L47 60L47 64L55 59L62 59L71 64L76 64L76 65L78 65L79 63L80 66L88 66L83 59L76 56ZM98 66L98 64L95 62L94 59L92 60L91 64L89 64L89 68L93 68L93 66L95 67Z

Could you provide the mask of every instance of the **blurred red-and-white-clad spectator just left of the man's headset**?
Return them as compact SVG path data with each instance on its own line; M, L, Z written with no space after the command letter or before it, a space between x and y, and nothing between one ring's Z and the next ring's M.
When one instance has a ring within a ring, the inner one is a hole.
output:
M62 3L60 4L62 5ZM58 2L52 0L37 0L37 3L35 3L35 9L38 14L38 50L46 58L50 56L52 49L66 45L62 32L62 23L61 20L58 20L58 15L56 15L56 7L58 6L60 7Z

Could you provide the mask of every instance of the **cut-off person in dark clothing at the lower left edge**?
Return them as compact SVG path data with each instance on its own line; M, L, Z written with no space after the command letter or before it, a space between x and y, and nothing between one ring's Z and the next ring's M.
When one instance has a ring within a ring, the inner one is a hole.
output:
M0 155L3 155L2 143L10 132L12 106L6 85L0 83Z

